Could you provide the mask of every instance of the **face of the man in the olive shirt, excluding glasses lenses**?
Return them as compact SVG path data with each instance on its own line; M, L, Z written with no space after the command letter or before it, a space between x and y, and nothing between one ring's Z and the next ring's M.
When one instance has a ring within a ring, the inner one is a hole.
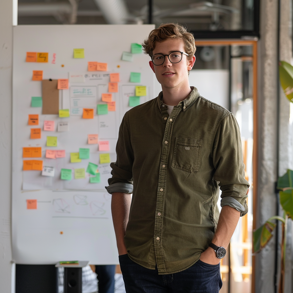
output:
M153 55L166 55L176 51L185 52L183 40L169 39L164 42L156 42ZM165 61L162 65L154 65L152 61L149 62L151 69L156 74L156 78L162 87L175 88L177 86L180 87L182 83L188 83L188 70L192 69L195 57L192 59L187 59L187 57L183 54L182 60L179 63L171 63L167 56L165 56Z

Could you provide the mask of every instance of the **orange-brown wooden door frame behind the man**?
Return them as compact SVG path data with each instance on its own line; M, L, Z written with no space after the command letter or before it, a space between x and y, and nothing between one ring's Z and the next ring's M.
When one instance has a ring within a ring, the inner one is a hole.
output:
M258 180L258 99L257 99L257 40L195 40L195 46L252 46L253 47L253 224L256 228L257 180ZM231 85L230 85L231 86ZM230 97L229 97L230 98ZM229 276L230 278L230 276ZM255 256L252 256L251 292L255 293Z

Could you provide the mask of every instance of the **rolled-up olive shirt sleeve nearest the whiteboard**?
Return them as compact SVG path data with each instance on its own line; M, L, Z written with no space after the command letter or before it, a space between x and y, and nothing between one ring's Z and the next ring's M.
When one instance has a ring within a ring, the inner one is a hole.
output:
M112 178L108 179L109 186L106 186L106 189L108 193L132 193L132 165L134 155L130 140L130 130L127 120L127 113L125 113L119 128L116 154L116 162L110 164L112 168Z

